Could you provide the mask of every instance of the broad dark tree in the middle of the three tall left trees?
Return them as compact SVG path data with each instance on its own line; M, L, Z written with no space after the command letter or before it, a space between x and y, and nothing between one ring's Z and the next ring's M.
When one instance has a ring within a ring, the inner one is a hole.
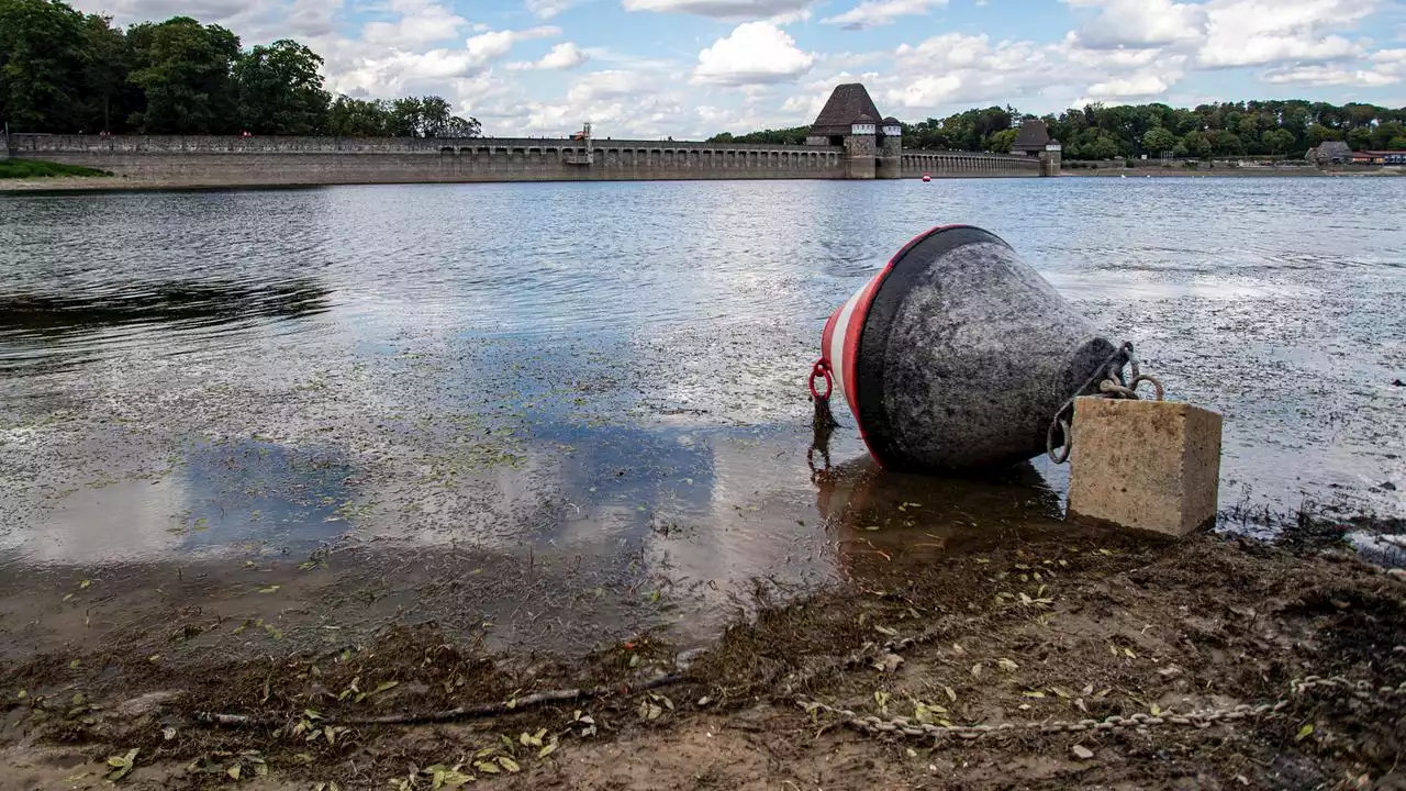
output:
M238 131L231 68L239 38L190 17L145 23L128 31L136 69L132 83L146 96L132 125L150 134L232 134Z

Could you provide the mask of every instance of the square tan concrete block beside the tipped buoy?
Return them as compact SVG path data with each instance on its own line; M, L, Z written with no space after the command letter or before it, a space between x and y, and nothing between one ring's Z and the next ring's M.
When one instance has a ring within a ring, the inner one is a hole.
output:
M1191 404L1077 398L1069 515L1184 536L1215 522L1220 415Z

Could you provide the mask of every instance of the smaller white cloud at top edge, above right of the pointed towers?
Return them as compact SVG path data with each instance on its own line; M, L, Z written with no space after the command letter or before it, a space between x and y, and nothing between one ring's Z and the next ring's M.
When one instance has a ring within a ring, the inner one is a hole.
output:
M1066 0L1073 8L1098 13L1073 31L1080 46L1116 49L1166 46L1201 41L1206 30L1206 8L1173 0Z

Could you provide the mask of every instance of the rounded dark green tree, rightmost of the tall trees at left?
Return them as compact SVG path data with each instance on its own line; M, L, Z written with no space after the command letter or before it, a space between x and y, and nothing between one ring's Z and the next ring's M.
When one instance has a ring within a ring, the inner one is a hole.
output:
M322 89L321 65L316 52L288 39L240 55L233 66L240 127L262 135L325 129L330 96Z

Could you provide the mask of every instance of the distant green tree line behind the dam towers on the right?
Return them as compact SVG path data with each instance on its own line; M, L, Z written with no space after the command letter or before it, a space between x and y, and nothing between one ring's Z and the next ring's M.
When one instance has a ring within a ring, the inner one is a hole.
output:
M1014 107L986 107L903 125L903 145L918 151L1007 153L1019 125L1040 118L1063 145L1064 159L1170 156L1303 156L1324 141L1354 151L1406 151L1406 108L1326 101L1223 101L1192 110L1167 104L1108 107L1088 104L1059 115L1032 115ZM808 127L721 134L709 142L803 144Z

